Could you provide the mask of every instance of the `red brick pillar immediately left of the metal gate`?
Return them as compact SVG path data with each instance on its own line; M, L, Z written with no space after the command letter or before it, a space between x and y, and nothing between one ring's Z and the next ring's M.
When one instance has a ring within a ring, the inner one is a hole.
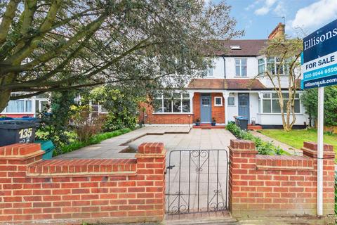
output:
M145 186L145 193L140 198L147 198L146 216L150 221L162 221L165 215L165 156L163 143L142 143L138 146L137 174L138 186Z

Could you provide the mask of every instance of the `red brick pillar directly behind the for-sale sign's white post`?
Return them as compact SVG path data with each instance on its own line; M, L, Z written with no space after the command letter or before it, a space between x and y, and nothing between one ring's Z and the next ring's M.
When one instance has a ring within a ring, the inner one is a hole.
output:
M315 180L313 186L317 187L317 143L304 142L303 155L313 159ZM335 205L335 153L333 146L324 144L323 148L323 214L334 214ZM317 188L316 188L317 191Z

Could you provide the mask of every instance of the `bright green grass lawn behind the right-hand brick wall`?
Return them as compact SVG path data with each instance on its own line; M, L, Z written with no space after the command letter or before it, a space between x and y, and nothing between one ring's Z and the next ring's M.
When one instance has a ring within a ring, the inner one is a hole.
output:
M303 141L317 142L317 130L315 129L296 129L288 132L282 129L263 129L260 133L298 149L303 147ZM324 134L324 143L333 145L337 153L337 135Z

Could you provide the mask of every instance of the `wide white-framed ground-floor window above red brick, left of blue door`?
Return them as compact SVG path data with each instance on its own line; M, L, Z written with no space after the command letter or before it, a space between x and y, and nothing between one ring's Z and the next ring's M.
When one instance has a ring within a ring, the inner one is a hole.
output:
M190 113L188 93L157 94L154 98L154 113Z

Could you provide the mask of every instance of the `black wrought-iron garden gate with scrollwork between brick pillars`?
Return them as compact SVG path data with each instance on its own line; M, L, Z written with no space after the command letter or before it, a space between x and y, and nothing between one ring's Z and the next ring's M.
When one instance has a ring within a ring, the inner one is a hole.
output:
M166 169L166 213L227 210L227 150L172 150Z

